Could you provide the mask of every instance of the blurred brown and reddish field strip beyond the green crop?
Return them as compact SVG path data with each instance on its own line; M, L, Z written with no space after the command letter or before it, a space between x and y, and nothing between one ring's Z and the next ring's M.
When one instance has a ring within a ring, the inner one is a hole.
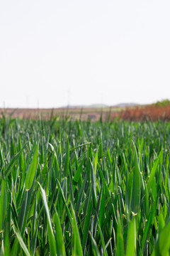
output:
M69 119L81 119L98 121L101 118L107 121L113 121L115 118L124 119L126 121L157 121L159 119L170 120L170 106L158 107L153 105L127 108L57 108L57 109L0 109L0 116L9 116L13 118L23 119L50 119L51 117L68 117Z

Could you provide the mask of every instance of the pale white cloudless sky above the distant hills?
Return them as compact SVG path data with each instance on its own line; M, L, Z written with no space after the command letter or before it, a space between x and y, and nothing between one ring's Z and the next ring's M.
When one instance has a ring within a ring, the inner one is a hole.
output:
M170 98L169 0L1 0L0 107Z

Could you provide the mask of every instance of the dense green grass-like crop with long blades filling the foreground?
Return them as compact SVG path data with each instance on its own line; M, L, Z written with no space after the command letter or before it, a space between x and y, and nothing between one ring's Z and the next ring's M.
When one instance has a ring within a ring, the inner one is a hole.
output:
M170 123L0 119L0 255L169 255Z

